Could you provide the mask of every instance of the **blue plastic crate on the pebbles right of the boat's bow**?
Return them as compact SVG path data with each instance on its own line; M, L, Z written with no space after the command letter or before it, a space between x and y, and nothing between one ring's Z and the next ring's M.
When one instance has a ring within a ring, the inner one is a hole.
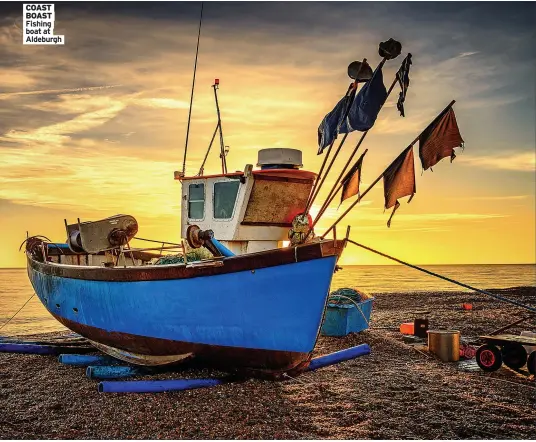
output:
M374 298L369 298L357 304L365 318L367 318L366 321L354 304L328 303L320 332L324 336L346 336L352 332L357 333L366 330L368 328L367 322L370 322L373 301Z

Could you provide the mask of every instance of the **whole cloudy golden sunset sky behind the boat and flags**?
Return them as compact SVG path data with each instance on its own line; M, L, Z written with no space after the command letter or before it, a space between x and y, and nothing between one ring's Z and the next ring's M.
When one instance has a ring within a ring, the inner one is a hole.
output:
M23 267L30 234L65 240L64 218L136 217L142 237L180 237L184 152L200 3L56 3L63 46L22 45L22 3L0 4L0 267ZM411 52L406 117L388 98L363 147L362 189L453 99L465 150L417 170L386 227L381 182L348 215L351 236L416 264L535 263L536 5L516 2L206 2L187 157L197 173L219 101L228 169L257 151L300 149L318 171L317 128L346 69ZM334 166L346 162L352 133ZM417 156L416 156L417 158ZM205 173L219 172L216 150ZM318 211L337 174L328 176ZM323 231L351 204L333 204ZM389 264L346 249L343 264Z

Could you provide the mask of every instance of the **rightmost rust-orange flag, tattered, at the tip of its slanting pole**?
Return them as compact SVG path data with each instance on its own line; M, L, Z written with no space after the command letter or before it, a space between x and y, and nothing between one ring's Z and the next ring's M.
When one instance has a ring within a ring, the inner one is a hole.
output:
M419 136L419 157L424 170L435 166L445 157L456 158L455 147L463 147L452 106L441 112Z

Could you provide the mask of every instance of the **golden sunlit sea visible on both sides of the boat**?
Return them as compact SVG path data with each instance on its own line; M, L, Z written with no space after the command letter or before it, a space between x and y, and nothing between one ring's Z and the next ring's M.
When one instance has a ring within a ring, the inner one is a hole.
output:
M536 286L536 264L423 267L477 288ZM357 288L370 294L396 293L399 296L408 292L469 292L447 281L401 265L343 266L343 269L335 274L331 288L336 290L342 287ZM0 269L0 337L61 330L65 328L45 310L37 296L34 296L26 269Z

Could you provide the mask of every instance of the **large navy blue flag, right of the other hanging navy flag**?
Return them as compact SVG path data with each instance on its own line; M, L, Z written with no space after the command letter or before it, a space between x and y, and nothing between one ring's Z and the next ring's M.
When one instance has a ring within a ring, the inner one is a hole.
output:
M374 126L386 99L387 90L383 84L383 73L381 66L378 66L372 78L357 93L348 112L348 117L341 125L339 132L348 133L354 130L365 132L369 130Z

